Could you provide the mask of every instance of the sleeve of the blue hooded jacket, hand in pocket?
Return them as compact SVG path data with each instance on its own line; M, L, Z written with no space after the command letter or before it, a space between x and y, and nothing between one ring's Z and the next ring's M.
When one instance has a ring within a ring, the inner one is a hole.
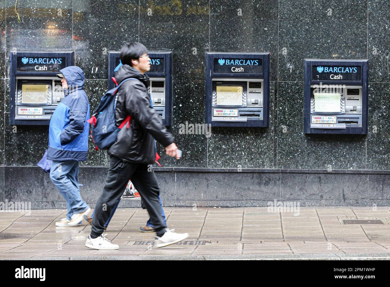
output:
M83 98L75 97L72 99L69 107L69 125L62 130L60 135L61 145L70 143L84 131L87 111L88 103Z

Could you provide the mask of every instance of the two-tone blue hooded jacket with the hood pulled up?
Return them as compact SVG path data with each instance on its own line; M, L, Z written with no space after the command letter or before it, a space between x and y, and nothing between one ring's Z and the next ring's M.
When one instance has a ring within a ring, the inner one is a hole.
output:
M87 159L89 135L89 100L84 91L84 72L77 66L60 72L68 89L50 119L47 158L83 161Z

